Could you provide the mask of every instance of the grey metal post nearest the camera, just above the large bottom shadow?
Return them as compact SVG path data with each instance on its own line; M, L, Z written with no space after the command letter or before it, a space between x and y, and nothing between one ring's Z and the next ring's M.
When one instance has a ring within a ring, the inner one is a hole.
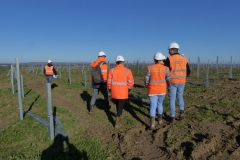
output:
M53 115L52 115L52 95L51 95L51 84L46 84L47 88L47 111L48 111L48 135L51 140L54 139L54 123L53 123Z

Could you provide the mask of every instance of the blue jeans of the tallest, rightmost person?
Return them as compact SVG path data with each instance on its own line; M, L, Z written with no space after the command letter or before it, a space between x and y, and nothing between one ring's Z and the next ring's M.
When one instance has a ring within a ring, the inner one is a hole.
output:
M176 97L178 99L178 106L180 110L184 110L184 92L185 84L169 84L168 86L168 96L169 96L169 106L170 106L170 116L175 117L175 101Z

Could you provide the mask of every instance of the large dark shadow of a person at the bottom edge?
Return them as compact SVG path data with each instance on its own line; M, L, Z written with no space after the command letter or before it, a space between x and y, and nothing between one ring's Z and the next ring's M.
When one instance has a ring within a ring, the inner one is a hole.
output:
M64 143L65 142L65 143ZM66 144L66 147L65 145ZM82 153L69 142L68 136L64 137L58 134L54 142L47 149L42 151L41 160L88 160L85 150Z

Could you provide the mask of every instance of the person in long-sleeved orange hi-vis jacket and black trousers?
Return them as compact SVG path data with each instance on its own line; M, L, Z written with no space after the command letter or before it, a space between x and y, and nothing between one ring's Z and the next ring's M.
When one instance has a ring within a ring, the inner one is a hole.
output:
M117 109L115 128L117 128L122 118L124 103L128 99L128 93L134 85L132 71L124 67L124 62L123 56L117 56L117 65L111 68L108 73L107 86L111 92L111 97L115 100Z

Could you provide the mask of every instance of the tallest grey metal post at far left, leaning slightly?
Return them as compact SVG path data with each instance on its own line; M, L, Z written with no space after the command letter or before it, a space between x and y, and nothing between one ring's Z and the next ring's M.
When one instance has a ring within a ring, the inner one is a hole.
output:
M20 120L23 120L22 97L21 97L21 86L20 86L20 71L19 71L18 58L16 58L16 70L17 70L17 87L18 87L18 110L19 110L19 118L20 118Z

